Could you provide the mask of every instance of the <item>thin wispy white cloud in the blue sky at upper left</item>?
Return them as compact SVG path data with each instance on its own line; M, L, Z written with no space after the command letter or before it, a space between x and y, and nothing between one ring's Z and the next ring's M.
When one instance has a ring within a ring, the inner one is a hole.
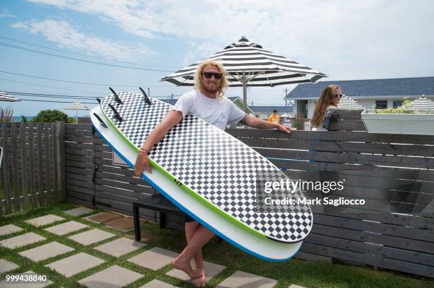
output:
M156 54L150 48L137 43L126 45L112 40L101 39L94 35L80 33L67 21L33 20L13 23L11 27L43 35L48 41L54 42L60 47L91 52L108 59L134 61L138 57L150 57Z

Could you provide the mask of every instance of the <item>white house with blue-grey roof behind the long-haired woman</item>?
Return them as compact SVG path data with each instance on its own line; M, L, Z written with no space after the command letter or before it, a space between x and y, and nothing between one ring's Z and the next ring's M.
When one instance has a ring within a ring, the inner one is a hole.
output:
M365 108L396 108L404 97L411 100L425 96L434 100L434 77L369 79L345 81L320 81L299 84L289 92L285 100L294 100L294 116L311 118L316 101L325 86L335 84L340 91Z

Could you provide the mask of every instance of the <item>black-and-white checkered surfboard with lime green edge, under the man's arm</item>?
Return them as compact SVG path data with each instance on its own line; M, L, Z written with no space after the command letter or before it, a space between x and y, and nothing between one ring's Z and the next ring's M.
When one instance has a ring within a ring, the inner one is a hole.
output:
M101 100L104 115L137 150L171 109L168 103L130 92ZM199 117L184 117L152 148L149 158L183 190L196 193L207 205L254 233L294 243L311 231L308 205L287 205L268 212L257 209L257 175L275 181L286 175L255 150ZM303 195L297 191L290 197Z

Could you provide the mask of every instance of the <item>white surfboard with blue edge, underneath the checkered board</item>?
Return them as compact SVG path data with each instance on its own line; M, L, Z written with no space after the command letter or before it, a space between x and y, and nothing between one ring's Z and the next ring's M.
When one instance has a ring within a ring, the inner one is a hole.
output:
M123 137L120 137L116 128L105 118L100 107L91 110L91 121L106 144L133 168L138 154L137 149L128 144ZM194 217L210 231L257 258L284 261L292 258L301 248L302 241L297 243L274 241L265 236L252 234L227 217L221 217L221 214L213 209L208 209L201 203L201 200L182 190L174 181L168 180L165 173L158 169L154 169L152 173L143 173L142 178L179 209Z

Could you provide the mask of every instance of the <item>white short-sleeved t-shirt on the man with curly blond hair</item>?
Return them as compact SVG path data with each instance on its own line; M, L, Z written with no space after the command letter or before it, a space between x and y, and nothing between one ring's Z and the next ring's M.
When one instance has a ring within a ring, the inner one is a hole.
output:
M211 99L199 90L185 93L177 100L172 110L181 111L182 117L193 114L224 130L228 123L240 122L245 116L243 110L226 97Z

